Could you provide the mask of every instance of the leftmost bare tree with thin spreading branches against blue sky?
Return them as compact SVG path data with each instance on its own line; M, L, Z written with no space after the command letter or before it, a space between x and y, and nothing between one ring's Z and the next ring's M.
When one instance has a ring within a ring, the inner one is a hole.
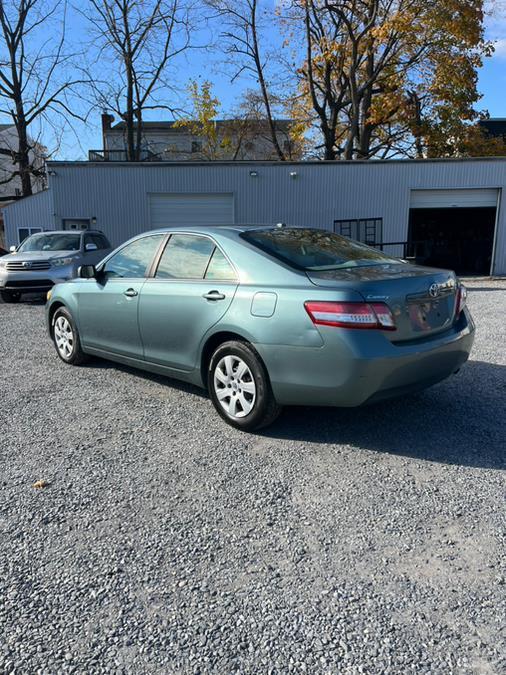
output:
M43 150L31 127L57 124L61 131L71 118L82 119L69 95L82 80L69 79L72 55L65 50L66 4L59 0L0 0L0 113L12 119L17 132L10 155L13 170L2 183L19 176L23 196L32 194L33 179L44 174ZM48 34L58 37L53 40Z

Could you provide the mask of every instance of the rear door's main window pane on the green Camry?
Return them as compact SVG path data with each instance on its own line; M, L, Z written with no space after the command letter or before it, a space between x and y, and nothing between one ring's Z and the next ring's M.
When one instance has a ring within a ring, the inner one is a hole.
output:
M207 237L173 234L155 276L157 279L203 279L214 248Z

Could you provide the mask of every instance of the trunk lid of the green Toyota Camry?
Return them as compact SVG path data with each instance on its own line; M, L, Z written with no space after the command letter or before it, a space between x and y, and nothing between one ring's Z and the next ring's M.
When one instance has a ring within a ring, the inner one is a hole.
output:
M455 318L457 279L448 270L393 263L308 271L319 287L357 291L367 302L388 305L397 326L392 342L425 338L447 330Z

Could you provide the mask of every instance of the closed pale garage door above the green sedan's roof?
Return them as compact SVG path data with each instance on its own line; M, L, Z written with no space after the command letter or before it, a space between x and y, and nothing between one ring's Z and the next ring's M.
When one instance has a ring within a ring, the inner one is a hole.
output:
M151 227L230 225L234 222L231 193L172 193L149 196Z

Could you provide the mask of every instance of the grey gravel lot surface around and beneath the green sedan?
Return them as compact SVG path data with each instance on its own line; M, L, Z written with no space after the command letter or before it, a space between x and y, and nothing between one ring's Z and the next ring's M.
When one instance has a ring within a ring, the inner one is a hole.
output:
M0 672L504 673L506 281L469 287L460 374L261 435L0 305Z

